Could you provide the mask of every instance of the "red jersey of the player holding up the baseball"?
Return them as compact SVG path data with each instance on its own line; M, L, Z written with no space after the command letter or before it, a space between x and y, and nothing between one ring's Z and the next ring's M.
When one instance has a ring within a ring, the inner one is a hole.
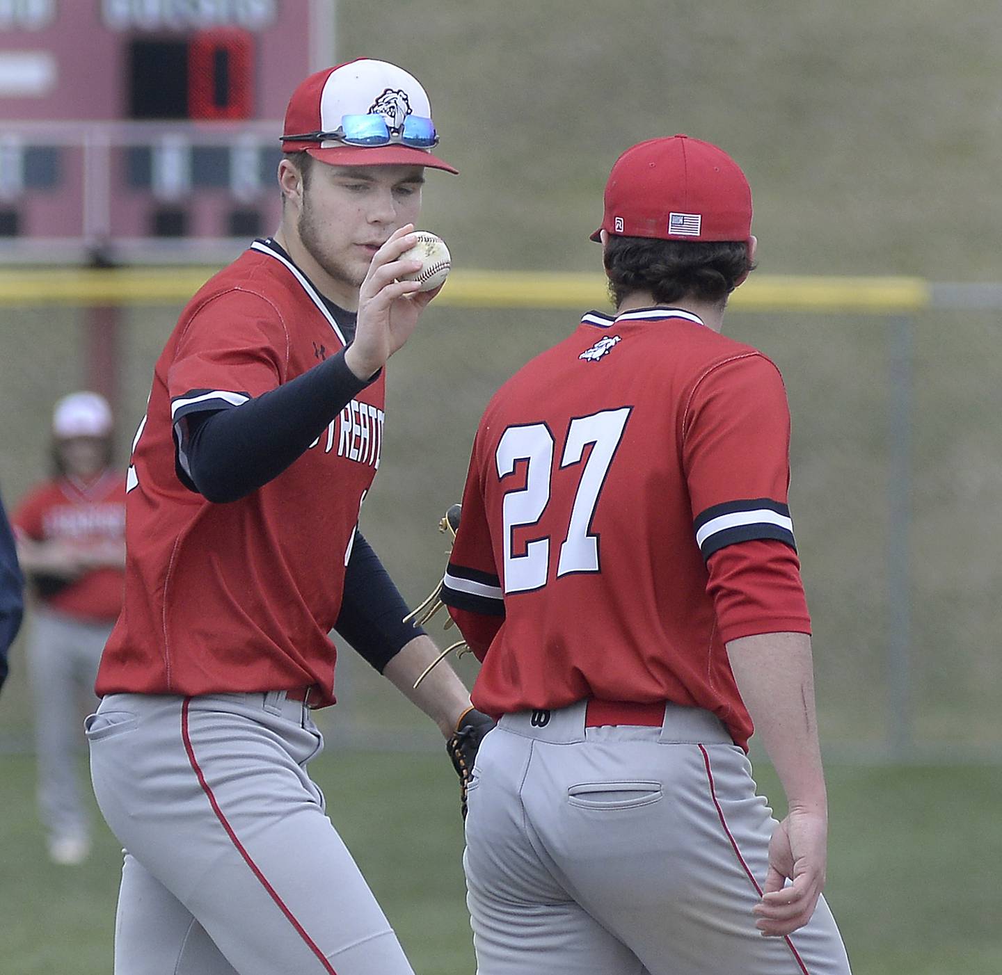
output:
M328 633L379 467L384 375L290 467L228 504L181 482L174 424L192 411L238 406L344 344L310 281L266 241L188 302L156 363L133 442L125 604L101 661L99 695L316 685L314 703L334 703Z

